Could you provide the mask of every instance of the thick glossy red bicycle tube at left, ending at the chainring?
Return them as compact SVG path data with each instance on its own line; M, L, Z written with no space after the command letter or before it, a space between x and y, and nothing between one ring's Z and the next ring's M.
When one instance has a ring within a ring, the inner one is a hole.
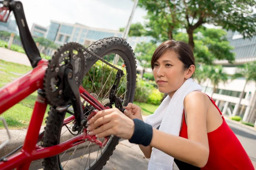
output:
M47 68L45 60L40 65L15 81L0 88L0 114L32 94L38 88L43 88L44 74Z

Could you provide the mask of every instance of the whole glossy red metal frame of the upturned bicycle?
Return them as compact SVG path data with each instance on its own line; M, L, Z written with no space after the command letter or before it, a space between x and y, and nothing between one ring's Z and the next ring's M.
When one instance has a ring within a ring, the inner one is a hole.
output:
M38 66L32 71L29 71L14 82L0 88L0 114L20 102L26 96L29 96L29 94L32 94L34 91L43 89L43 79L47 64L48 60L41 59L38 62ZM79 91L81 97L93 105L94 108L99 111L106 109L81 86ZM1 161L0 170L11 170L15 167L17 167L17 170L28 170L30 162L33 160L58 155L70 147L85 142L84 136L80 135L52 147L44 148L38 146L38 136L46 108L47 99L38 94L22 150L19 153L7 157L4 161ZM72 122L73 120L75 120L75 117L70 116L64 119L64 124ZM90 139L90 136L86 136L86 138Z

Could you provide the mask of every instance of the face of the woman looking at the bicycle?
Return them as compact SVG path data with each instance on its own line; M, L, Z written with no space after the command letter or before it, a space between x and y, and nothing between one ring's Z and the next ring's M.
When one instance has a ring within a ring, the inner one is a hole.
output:
M170 97L185 82L187 71L183 71L183 62L178 59L174 51L166 51L154 62L154 79L158 90Z

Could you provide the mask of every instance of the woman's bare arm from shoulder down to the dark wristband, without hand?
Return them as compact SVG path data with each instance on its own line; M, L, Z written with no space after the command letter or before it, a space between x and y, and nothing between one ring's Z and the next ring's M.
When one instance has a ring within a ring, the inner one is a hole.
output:
M153 129L150 143L164 153L196 167L204 167L209 157L204 94L192 92L184 99L188 139Z

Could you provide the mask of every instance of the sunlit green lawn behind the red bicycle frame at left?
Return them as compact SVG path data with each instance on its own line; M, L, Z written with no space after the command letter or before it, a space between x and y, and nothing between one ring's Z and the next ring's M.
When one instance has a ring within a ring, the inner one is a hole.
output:
M3 87L3 85L6 85L6 83L12 82L14 78L20 77L19 75L10 73L10 71L17 74L25 74L30 70L32 70L32 67L0 60L0 88ZM22 101L14 105L12 108L1 114L1 117L4 117L6 119L7 125L10 129L20 129L28 127L36 96L37 92L35 91ZM47 107L47 112L48 111L49 106ZM44 115L44 118L46 116L47 114ZM3 122L0 122L0 128L4 128Z

